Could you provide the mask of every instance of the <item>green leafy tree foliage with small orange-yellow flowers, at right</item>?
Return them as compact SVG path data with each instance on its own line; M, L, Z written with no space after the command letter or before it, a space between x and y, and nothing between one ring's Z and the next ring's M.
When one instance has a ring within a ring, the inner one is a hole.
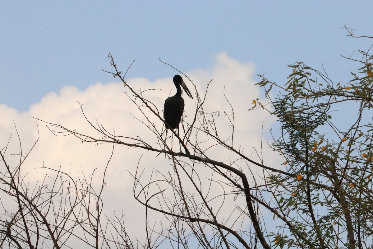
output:
M363 56L364 66L351 72L345 85L303 62L289 65L292 74L285 86L260 75L257 84L268 89L270 112L281 123L282 136L273 149L285 159L287 171L297 175L269 178L279 186L276 210L292 223L278 231L294 236L278 240L281 246L372 246L373 77L372 57ZM275 87L280 93L271 97ZM338 121L333 122L333 113L339 114Z

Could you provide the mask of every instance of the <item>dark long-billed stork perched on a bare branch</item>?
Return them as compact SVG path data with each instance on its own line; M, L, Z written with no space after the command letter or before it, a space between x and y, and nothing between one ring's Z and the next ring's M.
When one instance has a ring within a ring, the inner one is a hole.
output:
M192 97L192 94L190 93L188 87L186 86L183 78L176 74L173 77L173 84L176 86L176 94L174 96L168 97L164 101L163 106L163 119L166 121L168 126L166 125L166 138L167 138L167 130L177 129L178 135L179 135L179 124L181 121L181 115L184 112L184 99L181 97L181 87L184 88L186 95L189 97ZM166 144L164 144L166 147ZM164 150L164 149L163 149Z

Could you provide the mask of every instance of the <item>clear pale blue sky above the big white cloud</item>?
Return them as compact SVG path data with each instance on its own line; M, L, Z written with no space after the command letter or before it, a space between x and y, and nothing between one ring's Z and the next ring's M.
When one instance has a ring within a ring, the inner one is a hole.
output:
M151 81L208 69L226 52L256 74L284 81L286 65L322 63L335 81L356 68L342 55L370 41L372 4L352 1L0 1L0 103L26 111L64 85L85 89L113 78L111 52L129 77ZM229 83L227 83L229 84Z

